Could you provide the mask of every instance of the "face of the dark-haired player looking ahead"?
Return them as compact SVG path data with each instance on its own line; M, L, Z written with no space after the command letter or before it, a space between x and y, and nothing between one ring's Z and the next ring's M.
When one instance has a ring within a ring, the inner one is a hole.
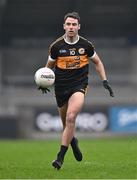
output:
M75 37L80 29L80 24L77 19L68 17L64 23L64 30L67 36Z

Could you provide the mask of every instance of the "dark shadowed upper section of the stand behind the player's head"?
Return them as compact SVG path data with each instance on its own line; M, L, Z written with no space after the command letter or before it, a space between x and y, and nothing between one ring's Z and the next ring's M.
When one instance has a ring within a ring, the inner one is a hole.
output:
M3 1L3 0L2 0ZM6 0L3 43L15 38L43 38L62 34L63 16L76 10L82 33L91 37L136 35L136 0Z

